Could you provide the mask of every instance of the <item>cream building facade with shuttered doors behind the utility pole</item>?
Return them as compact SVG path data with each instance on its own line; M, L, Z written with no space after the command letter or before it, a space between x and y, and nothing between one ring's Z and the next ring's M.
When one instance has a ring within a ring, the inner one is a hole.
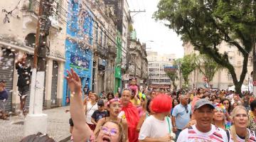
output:
M15 62L24 53L28 55L27 64L33 67L33 50L36 40L38 21L38 1L0 1L0 80L6 80L9 91L6 110L16 111L19 108L18 75ZM51 26L46 45L46 75L43 93L43 107L61 106L63 98L63 70L65 64L65 10L64 1L54 2L54 16L50 17ZM11 12L11 14L9 14ZM29 106L30 95L26 99Z

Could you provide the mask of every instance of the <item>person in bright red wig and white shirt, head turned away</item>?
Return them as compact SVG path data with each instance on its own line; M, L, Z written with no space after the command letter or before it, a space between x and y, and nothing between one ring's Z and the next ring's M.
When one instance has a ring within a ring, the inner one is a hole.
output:
M146 118L139 131L140 142L161 141L169 142L174 139L172 133L171 119L171 97L166 94L159 94L151 102L151 111L153 115Z

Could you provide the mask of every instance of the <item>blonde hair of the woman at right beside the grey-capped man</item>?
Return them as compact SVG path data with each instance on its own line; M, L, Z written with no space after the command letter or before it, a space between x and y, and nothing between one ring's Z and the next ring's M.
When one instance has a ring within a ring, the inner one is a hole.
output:
M245 107L243 107L243 106L238 106L238 107L235 107L235 109L233 109L233 111L231 112L231 119L233 120L234 119L234 117L236 116L236 114L238 114L238 111L240 111L240 110L244 110L245 112L246 112L246 114L247 114L247 117L248 117L248 119L249 119L249 116L248 116L248 113L247 113L247 110L245 109ZM249 125L249 122L250 121L248 121L248 124L247 124L247 126ZM245 133L245 138L247 137L246 135L247 135L248 133ZM230 135L231 135L231 138L233 139L233 141L234 142L238 142L238 138L237 138L237 133L236 133L236 131L235 131L235 126L234 126L234 124L232 124L232 126L230 126Z

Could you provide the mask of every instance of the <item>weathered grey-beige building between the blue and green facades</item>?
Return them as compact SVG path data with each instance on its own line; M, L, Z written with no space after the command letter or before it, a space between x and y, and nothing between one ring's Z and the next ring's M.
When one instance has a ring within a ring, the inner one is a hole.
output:
M117 21L114 6L105 1L86 0L93 12L95 23L93 27L94 42L92 91L100 94L102 91L114 90L114 58L117 56L115 40L117 38Z

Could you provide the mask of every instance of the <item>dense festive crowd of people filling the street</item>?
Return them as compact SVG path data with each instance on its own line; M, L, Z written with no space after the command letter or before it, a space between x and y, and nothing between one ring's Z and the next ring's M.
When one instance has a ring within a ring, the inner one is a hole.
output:
M73 70L66 80L72 141L256 141L256 99L247 92L139 90L132 79L120 97L89 92L83 98Z

